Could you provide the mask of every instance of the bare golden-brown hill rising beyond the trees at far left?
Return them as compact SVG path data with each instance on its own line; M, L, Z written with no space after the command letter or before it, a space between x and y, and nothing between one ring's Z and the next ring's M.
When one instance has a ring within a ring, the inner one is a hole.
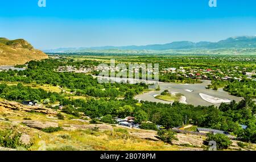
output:
M0 65L20 65L31 60L48 58L47 54L34 49L26 40L0 38Z

